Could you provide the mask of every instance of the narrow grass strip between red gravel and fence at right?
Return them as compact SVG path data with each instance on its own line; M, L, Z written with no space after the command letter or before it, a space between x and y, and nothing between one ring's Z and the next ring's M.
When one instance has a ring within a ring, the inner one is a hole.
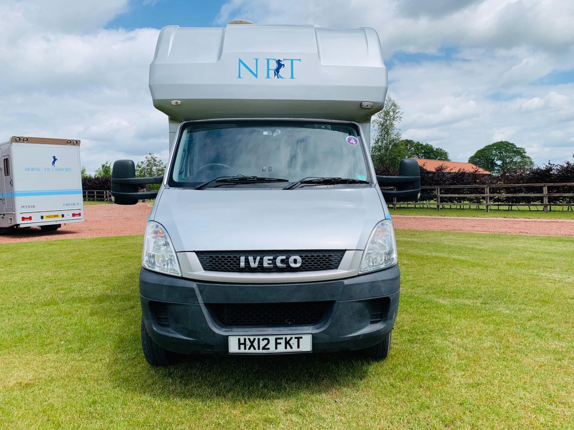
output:
M533 208L534 209L534 206ZM521 208L517 210L490 209L486 212L484 209L426 209L426 208L389 208L391 215L418 215L418 216L441 216L441 217L492 217L492 218L546 218L558 220L574 220L574 212L554 208L551 211L544 212L542 206L540 210L528 210Z

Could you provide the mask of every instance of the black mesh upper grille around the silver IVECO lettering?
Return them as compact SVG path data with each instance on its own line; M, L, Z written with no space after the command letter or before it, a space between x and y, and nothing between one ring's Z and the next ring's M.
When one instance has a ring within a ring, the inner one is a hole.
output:
M196 252L204 270L216 272L308 272L338 269L345 251L253 251L253 252ZM272 267L263 267L263 257L272 257ZM277 267L278 256L285 256L282 263L286 267ZM300 267L290 267L289 257L301 257ZM241 267L241 257L245 257L245 267ZM257 267L251 267L249 257ZM259 261L257 261L259 257Z

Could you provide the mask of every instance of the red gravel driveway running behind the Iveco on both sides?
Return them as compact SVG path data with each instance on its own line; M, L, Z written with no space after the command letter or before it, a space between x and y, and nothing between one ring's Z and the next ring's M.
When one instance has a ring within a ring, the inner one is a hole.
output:
M86 221L63 225L55 232L39 227L15 229L0 234L0 244L33 240L79 239L82 237L144 234L151 205L90 205L84 208ZM526 220L522 218L421 217L394 215L397 229L445 230L452 232L542 234L574 236L574 220Z

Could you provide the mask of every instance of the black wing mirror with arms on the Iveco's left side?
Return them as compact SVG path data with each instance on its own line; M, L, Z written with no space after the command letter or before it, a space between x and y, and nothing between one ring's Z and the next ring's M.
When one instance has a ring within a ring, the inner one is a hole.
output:
M134 162L118 160L111 170L111 195L118 205L135 205L138 200L157 197L157 191L138 191L138 185L161 183L163 179L162 176L136 178Z

